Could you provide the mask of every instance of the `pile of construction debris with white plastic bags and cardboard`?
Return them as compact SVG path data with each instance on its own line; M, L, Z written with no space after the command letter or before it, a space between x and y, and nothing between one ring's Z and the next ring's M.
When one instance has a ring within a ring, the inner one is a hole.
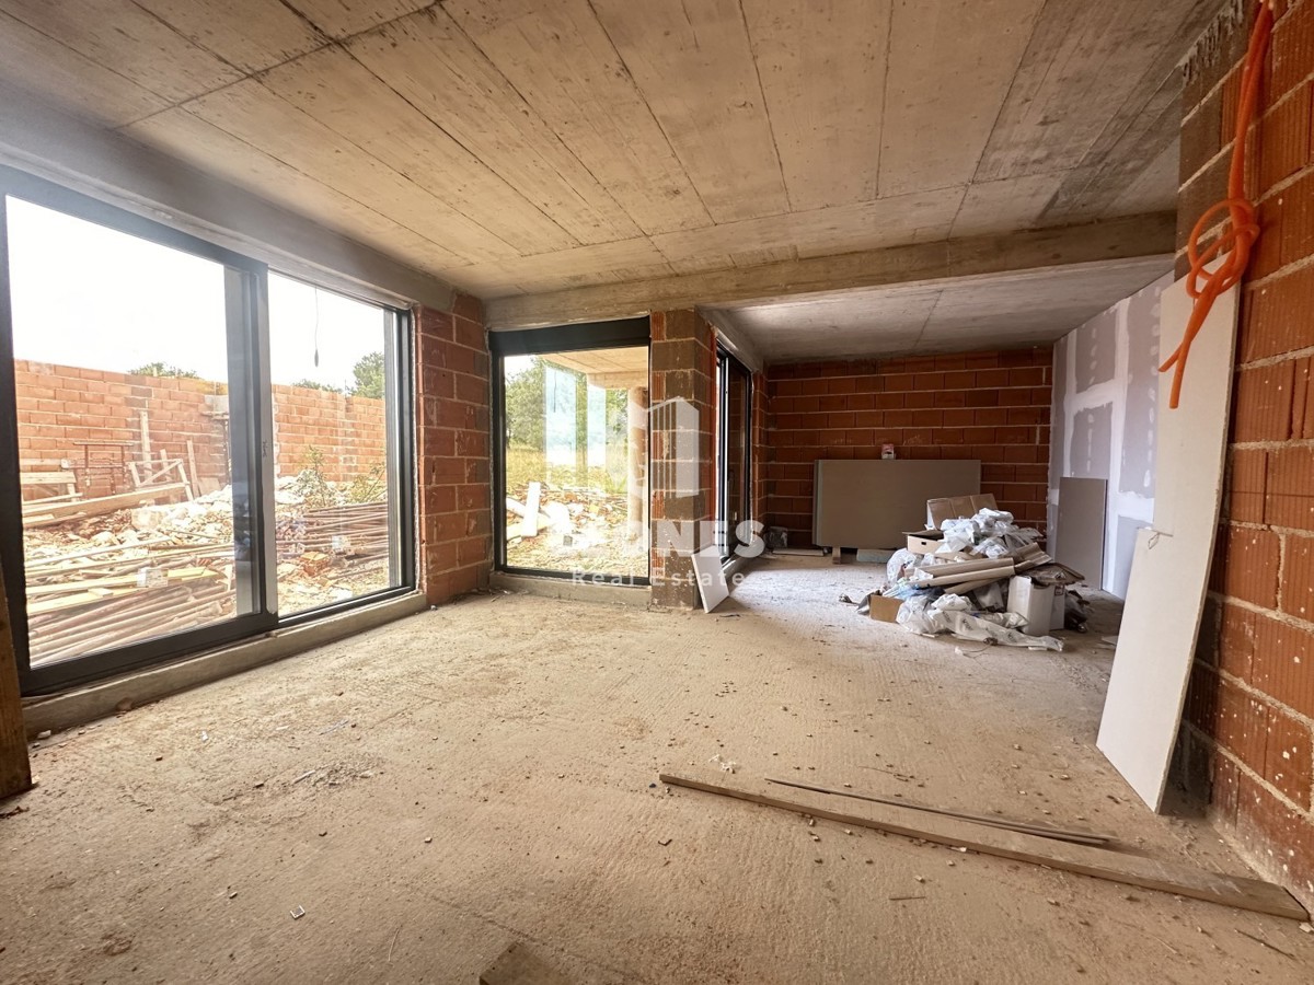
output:
M1083 575L1046 554L1041 532L1018 527L993 496L930 500L928 528L907 536L886 586L859 612L912 633L1033 649L1062 650L1054 629L1084 632L1085 603L1068 591Z

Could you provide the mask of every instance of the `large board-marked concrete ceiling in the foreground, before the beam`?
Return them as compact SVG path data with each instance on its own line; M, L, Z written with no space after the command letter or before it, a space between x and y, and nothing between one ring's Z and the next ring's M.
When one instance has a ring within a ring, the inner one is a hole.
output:
M0 79L510 298L1171 210L1218 7L0 0Z

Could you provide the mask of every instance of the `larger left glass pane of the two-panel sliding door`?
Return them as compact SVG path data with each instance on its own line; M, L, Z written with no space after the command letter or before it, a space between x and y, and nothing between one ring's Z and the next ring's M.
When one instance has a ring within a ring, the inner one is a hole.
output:
M254 611L218 263L7 198L32 666Z

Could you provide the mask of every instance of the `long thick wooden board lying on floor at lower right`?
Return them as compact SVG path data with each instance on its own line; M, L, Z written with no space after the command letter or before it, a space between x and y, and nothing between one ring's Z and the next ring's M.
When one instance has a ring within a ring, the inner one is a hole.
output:
M983 855L1029 862L1064 872L1095 876L1110 883L1189 896L1193 900L1267 913L1273 917L1297 921L1309 918L1305 908L1290 893L1279 885L1257 879L1227 876L1193 865L1122 855L1106 848L1062 844L1037 835L1004 831L957 818L917 814L901 808L872 805L865 808L862 814L832 810L825 806L824 795L800 791L795 800L784 800L774 796L770 787L762 781L731 779L724 772L704 776L664 772L660 779L673 787L719 793L724 797L792 810L853 827L867 827L874 831L900 834L905 838L918 838L924 842L970 848Z

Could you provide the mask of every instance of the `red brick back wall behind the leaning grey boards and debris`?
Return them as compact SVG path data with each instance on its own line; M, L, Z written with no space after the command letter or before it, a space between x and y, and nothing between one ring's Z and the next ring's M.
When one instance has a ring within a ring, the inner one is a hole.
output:
M1043 529L1050 347L767 369L766 523L812 542L817 458L979 458L982 491Z

